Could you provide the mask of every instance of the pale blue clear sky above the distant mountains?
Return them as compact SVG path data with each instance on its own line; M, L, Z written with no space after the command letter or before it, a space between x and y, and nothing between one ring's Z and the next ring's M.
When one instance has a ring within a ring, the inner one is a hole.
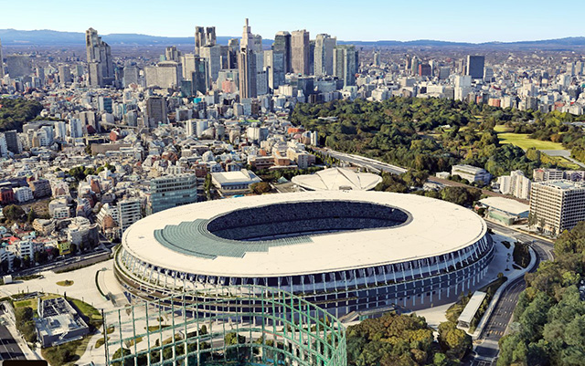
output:
M345 41L480 43L585 36L576 16L584 11L582 0L0 0L0 29L192 37L195 26L216 26L218 36L240 37L248 17L252 33L270 39L307 29Z

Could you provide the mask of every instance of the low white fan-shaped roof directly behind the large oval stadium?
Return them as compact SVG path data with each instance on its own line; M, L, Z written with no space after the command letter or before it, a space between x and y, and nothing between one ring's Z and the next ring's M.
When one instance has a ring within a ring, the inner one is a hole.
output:
M368 191L380 182L382 177L378 174L356 173L344 168L329 168L293 177L293 183L311 191Z

